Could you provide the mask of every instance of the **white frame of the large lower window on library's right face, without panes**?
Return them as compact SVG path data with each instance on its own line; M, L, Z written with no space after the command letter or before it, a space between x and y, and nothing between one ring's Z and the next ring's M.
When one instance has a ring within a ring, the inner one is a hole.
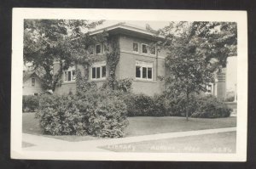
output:
M137 65L137 62L141 62L142 65ZM137 77L137 67L140 67L140 77ZM146 68L146 78L143 78L143 68ZM151 68L151 78L148 78L148 68ZM136 62L135 62L135 79L143 80L143 81L153 81L153 78L154 78L154 62L136 60Z

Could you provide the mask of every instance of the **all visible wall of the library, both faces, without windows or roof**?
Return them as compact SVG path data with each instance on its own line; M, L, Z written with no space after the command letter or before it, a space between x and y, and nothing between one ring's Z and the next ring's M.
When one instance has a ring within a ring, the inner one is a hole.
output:
M133 52L133 42L139 43L139 52ZM166 51L158 54L158 57L152 54L142 54L142 43L149 44L150 41L147 39L130 37L126 35L122 35L119 37L119 45L120 45L120 59L119 64L116 69L117 79L123 78L132 78L134 81L132 82L132 88L134 93L145 93L148 95L154 95L155 93L161 93L165 89L164 82L160 82L157 76L165 76L165 57ZM104 54L101 57L101 60L106 60ZM153 63L153 81L145 81L136 79L136 61L146 61ZM79 66L82 75L84 76L84 70L82 66ZM59 65L55 63L54 72L57 72L59 69ZM108 65L107 65L107 76L108 76ZM63 76L61 77L63 78ZM91 79L91 69L89 72L89 82L96 82L97 87L101 87L103 82L106 80L92 80ZM75 82L62 82L61 87L55 88L55 93L69 93L76 91Z

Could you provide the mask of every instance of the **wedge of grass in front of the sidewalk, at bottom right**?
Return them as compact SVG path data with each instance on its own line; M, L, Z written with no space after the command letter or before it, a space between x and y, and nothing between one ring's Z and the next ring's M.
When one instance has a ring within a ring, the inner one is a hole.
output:
M151 153L236 153L236 132L167 138L131 144L102 146L114 152Z

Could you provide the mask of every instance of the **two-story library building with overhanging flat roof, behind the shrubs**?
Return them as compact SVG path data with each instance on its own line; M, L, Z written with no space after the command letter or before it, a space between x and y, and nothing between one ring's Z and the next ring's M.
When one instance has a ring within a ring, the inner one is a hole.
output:
M158 51L155 47L149 48L149 45L163 37L155 37L149 31L126 24L108 26L104 29L93 31L90 35L96 35L104 30L108 31L110 38L118 37L120 58L116 69L117 79L133 79L133 93L145 93L151 96L155 93L162 93L165 90L165 82L160 81L158 76L165 76L167 73L165 69L167 51L163 49ZM102 56L102 61L96 62L90 67L89 81L96 82L98 86L102 85L102 82L106 82L108 77L108 65L106 65L104 49L103 45L99 43L90 50L91 54ZM80 68L81 66L79 66ZM58 69L59 63L55 62L54 72L57 72ZM84 73L83 70L81 72ZM64 71L61 78L61 87L56 87L55 93L76 91L75 66ZM218 81L217 86L220 83ZM223 85L220 86L224 87ZM212 84L208 92L218 95L218 92L213 92L214 88Z

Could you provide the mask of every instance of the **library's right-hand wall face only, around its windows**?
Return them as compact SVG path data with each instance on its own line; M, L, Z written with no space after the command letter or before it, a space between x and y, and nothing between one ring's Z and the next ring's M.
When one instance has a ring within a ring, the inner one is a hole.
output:
M147 40L135 37L120 37L120 59L117 66L117 78L132 78L133 93L145 93L154 95L162 93L165 89L164 82L160 82L157 76L165 76L165 59L156 58L156 55L142 54L141 43L149 43ZM139 42L139 53L132 51L133 42ZM153 81L136 79L136 61L153 63Z

